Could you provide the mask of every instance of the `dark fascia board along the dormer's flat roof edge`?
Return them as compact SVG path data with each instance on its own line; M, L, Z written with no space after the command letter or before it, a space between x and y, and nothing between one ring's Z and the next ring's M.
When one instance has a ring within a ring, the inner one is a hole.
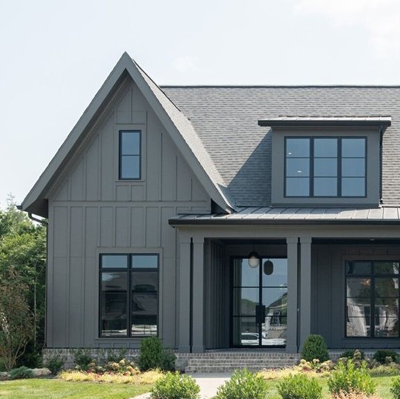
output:
M258 126L268 126L269 128L274 127L290 127L290 126L340 126L340 127L376 127L376 128L387 128L392 125L390 120L323 120L323 119L307 119L307 120L296 120L296 119L260 119Z

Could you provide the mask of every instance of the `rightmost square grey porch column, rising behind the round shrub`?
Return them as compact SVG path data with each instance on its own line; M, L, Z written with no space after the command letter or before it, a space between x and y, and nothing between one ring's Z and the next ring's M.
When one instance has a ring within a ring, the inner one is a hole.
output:
M300 238L300 346L311 333L311 241Z

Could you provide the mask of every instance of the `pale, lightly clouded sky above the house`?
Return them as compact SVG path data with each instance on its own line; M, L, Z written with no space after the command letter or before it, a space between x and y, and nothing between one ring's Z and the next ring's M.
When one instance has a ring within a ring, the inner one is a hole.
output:
M0 206L124 51L158 84L400 84L397 0L0 0Z

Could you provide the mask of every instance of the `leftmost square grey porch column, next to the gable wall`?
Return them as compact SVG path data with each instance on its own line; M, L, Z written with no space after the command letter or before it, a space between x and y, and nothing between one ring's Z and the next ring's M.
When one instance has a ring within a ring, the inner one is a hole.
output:
M178 351L190 353L190 237L180 237L179 344Z

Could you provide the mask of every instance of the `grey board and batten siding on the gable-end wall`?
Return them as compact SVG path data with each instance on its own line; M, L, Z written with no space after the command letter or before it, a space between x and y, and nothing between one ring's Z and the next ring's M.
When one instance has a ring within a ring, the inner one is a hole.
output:
M210 197L132 80L103 107L49 189L47 346L130 347L99 338L99 254L159 253L159 331L177 343L178 249L168 219L210 212ZM142 180L118 180L119 130L142 131Z

